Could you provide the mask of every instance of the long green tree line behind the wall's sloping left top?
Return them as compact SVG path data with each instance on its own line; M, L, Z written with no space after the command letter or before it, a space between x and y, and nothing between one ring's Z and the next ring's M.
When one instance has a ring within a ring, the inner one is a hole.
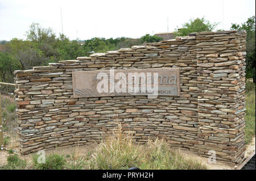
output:
M147 40L118 37L105 39L94 37L90 40L69 40L63 34L56 34L51 28L42 28L32 23L26 32L27 39L0 41L0 82L13 82L14 70L32 69L33 66L48 65L49 62L72 60L79 56L89 56L93 52L106 52L119 48L141 45L148 38L152 41L162 40L159 37L145 35Z

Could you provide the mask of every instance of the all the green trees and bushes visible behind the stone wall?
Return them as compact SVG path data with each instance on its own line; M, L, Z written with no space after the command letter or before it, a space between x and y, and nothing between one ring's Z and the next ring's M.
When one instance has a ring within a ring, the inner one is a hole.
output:
M218 23L210 23L204 18L191 19L176 30L176 36L187 36L191 32L213 31ZM232 24L231 30L247 32L246 43L246 77L255 82L255 16L241 25ZM106 52L120 48L141 45L144 42L163 40L149 34L140 39L118 37L105 39L94 37L90 40L69 40L63 34L56 34L51 28L42 28L38 23L32 23L26 32L27 39L12 39L0 41L0 82L13 82L14 70L32 69L33 66L48 65L49 62L72 60L79 56L89 56L94 52Z

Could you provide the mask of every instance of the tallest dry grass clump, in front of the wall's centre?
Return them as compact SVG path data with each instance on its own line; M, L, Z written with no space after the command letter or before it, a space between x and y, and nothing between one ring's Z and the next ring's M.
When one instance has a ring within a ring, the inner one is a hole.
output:
M97 146L87 161L89 169L129 169L142 159L138 145L133 144L131 136L122 134L121 127L112 136L106 137Z

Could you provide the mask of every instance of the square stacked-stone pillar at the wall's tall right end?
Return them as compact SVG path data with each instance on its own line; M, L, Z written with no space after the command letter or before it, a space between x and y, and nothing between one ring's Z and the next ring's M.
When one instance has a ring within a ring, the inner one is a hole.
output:
M197 35L199 153L241 162L245 151L246 33Z

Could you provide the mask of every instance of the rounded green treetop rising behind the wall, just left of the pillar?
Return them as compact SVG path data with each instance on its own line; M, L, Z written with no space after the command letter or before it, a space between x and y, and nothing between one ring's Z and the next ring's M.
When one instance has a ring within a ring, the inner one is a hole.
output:
M182 28L179 28L177 35L187 36L188 33L202 32L202 31L213 31L218 23L210 23L209 20L204 18L190 19L189 22L184 23Z

